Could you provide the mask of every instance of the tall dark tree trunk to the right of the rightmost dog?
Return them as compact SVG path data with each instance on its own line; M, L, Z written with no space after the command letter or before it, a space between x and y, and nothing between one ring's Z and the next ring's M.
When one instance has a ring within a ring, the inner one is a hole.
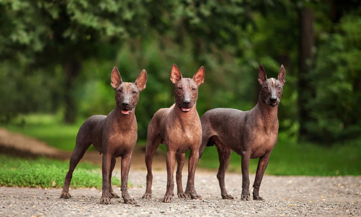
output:
M313 32L313 9L302 8L299 10L299 27L300 27L300 41L299 41L299 75L298 75L298 107L299 107L299 121L300 121L300 136L307 135L306 124L310 120L310 111L308 109L308 102L312 98L312 86L308 80L308 73L312 69L313 64L313 47L314 47L314 32Z

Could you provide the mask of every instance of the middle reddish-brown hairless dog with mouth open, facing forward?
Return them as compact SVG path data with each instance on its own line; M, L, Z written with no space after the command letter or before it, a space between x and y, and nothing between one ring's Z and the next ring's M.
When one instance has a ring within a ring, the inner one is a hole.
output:
M198 151L202 139L202 128L196 101L198 88L204 82L204 67L200 67L193 78L182 78L177 65L173 64L170 80L174 84L175 104L170 108L158 110L148 126L147 147L145 149L145 164L147 165L147 189L143 198L152 197L152 162L153 156L160 143L167 147L167 190L162 202L173 201L174 189L174 157L180 159L190 149L188 166L188 188L192 199L202 199L194 187L194 175L198 162ZM179 162L178 162L179 166ZM182 165L183 167L183 165ZM177 173L177 178L178 178ZM178 184L178 182L177 182ZM182 186L178 185L178 195L183 195Z

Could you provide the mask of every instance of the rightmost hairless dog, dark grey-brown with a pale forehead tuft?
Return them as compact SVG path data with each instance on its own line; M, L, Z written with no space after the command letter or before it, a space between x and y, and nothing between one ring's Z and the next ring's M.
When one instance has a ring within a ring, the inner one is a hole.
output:
M205 146L216 145L219 157L217 178L221 187L222 199L234 199L227 193L225 187L225 172L230 162L231 152L234 150L242 156L241 200L251 200L248 175L250 158L260 158L253 184L253 200L264 200L259 195L259 189L271 151L277 142L277 112L285 82L284 76L282 65L278 79L267 79L261 64L258 69L261 91L258 103L254 108L249 111L215 108L205 112L202 116L202 142L199 148L199 157ZM180 160L182 161L182 159ZM178 182L182 184L182 180L177 178Z

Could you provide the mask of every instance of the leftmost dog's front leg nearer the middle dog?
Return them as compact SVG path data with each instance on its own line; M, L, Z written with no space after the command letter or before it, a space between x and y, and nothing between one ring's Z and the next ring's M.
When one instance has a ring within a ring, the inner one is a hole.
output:
M128 193L128 174L130 169L130 162L132 159L132 152L126 153L122 156L122 184L121 191L125 204L136 204L134 198L131 198Z

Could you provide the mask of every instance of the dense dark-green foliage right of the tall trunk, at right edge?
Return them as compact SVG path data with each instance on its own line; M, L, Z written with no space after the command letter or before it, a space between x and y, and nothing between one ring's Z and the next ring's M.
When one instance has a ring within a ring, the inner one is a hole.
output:
M331 143L360 135L361 128L361 17L348 15L335 33L321 33L315 69L309 80L316 97L309 110L314 121L309 133Z

